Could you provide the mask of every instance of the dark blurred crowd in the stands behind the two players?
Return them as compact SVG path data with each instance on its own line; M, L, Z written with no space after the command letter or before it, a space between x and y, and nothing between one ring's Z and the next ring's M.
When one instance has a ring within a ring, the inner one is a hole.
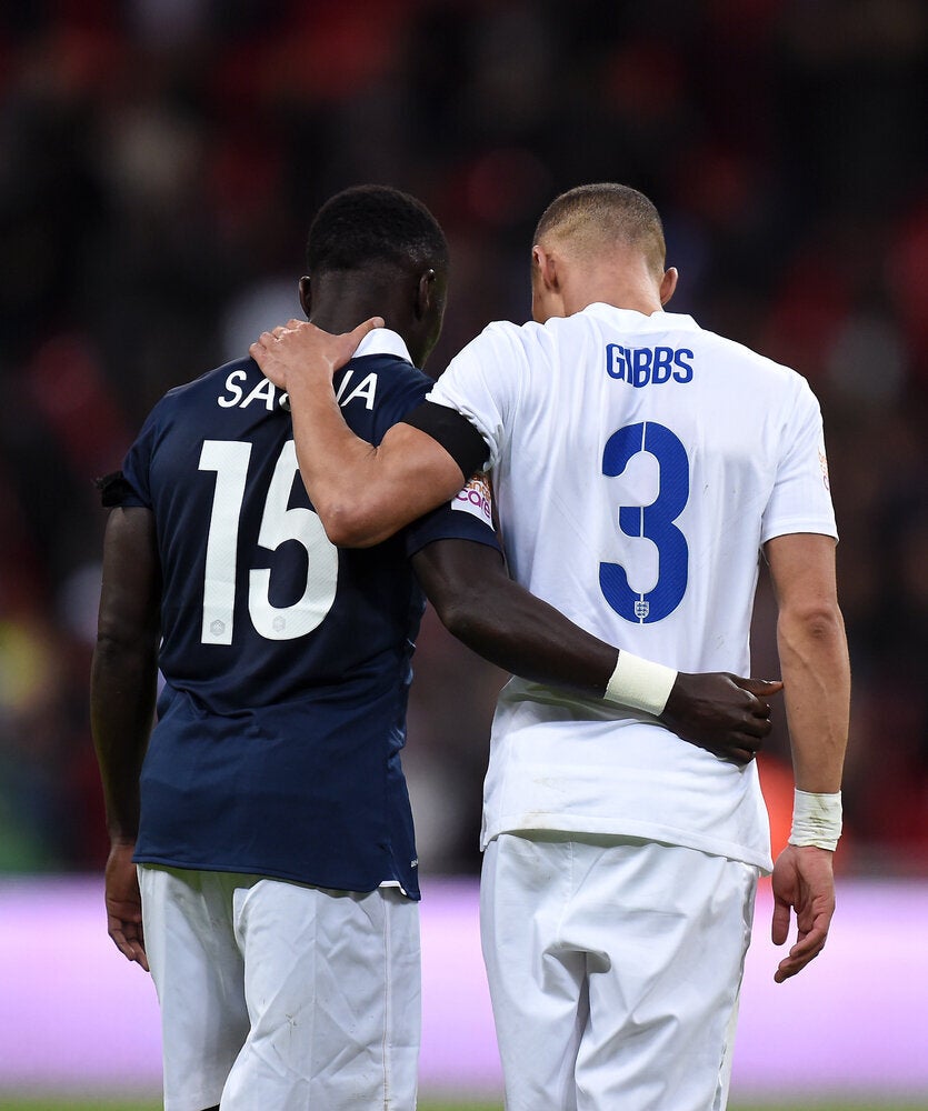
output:
M166 389L298 314L318 206L378 181L436 212L437 374L528 317L547 201L617 180L665 217L671 308L821 399L855 673L846 867L928 873L926 119L920 0L4 4L0 871L101 867L93 478ZM772 618L764 581L764 674ZM503 677L432 614L417 661L423 870L469 871ZM787 761L780 727L771 795Z

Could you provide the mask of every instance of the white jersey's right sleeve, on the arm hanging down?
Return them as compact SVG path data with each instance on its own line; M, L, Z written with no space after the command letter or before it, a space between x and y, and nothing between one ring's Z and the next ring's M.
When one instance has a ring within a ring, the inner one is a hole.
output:
M798 382L792 410L782 428L780 442L785 450L764 511L761 543L795 532L838 537L821 410L806 380L798 378Z

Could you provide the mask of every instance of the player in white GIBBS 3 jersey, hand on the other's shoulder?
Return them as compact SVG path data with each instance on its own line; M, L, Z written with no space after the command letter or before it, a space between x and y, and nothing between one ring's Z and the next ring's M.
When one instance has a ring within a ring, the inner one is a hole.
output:
M725 1107L758 877L774 871L775 973L825 944L840 833L849 665L819 408L792 370L666 312L651 202L585 186L543 213L532 316L495 323L377 449L327 381L355 340L265 333L329 536L366 544L449 497L462 414L485 444L513 577L603 640L642 709L687 671L748 665L758 558L776 591L792 747L776 864L755 765L682 748L645 713L513 679L485 790L481 931L509 1111Z

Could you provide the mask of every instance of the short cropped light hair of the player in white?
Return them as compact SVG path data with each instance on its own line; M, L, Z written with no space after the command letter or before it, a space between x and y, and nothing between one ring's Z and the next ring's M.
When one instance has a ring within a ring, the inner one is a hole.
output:
M577 186L548 206L535 229L535 243L569 240L588 256L613 246L640 251L656 277L663 276L667 247L658 210L643 193L606 181Z

